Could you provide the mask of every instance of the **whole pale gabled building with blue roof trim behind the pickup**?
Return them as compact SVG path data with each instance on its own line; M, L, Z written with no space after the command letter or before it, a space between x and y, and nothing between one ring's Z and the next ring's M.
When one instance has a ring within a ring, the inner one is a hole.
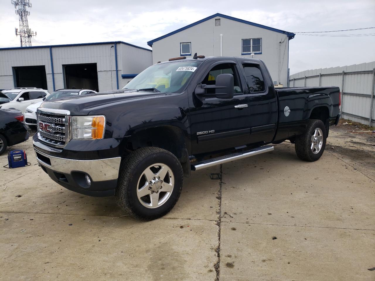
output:
M288 83L289 40L294 33L216 13L147 42L153 63L173 57L254 57L263 60L275 84Z

